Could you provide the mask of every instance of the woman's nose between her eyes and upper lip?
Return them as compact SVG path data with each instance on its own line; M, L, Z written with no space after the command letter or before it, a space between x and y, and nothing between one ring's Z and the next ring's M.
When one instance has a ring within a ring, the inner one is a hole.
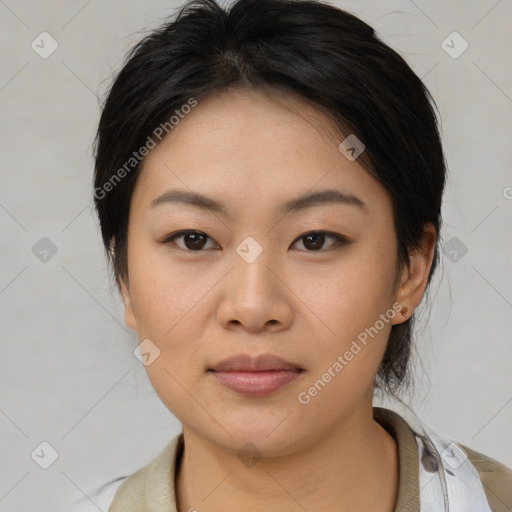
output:
M293 293L286 281L279 258L271 252L263 249L246 258L239 250L223 280L218 321L226 329L240 326L251 332L287 329L293 321Z

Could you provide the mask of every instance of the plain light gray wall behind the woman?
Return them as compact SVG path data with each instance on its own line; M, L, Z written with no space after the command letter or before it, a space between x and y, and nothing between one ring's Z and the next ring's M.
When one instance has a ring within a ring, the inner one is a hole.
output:
M441 112L446 246L431 312L419 311L411 403L434 431L512 466L511 2L335 4L405 57ZM112 71L177 5L0 0L2 512L65 510L180 429L132 353L109 283L91 151ZM59 45L47 59L31 47L43 31ZM458 58L441 46L453 31L469 44ZM47 261L33 252L43 237L57 249ZM43 441L58 452L48 469L31 457Z

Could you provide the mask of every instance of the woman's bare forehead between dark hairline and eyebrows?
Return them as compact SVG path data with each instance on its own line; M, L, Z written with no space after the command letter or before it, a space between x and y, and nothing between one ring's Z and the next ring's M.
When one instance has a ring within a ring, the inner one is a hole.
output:
M199 101L145 157L133 201L180 188L224 203L269 206L336 188L389 208L384 187L339 150L322 110L292 95L234 89Z

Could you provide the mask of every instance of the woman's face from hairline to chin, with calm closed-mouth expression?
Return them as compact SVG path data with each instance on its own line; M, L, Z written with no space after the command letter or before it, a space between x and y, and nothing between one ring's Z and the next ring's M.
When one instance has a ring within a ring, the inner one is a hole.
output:
M150 151L132 196L126 322L158 354L146 371L162 402L228 449L283 454L367 415L391 326L404 321L391 199L332 128L300 99L210 97ZM162 198L173 190L221 209ZM357 199L283 209L321 191ZM210 371L237 355L300 371Z

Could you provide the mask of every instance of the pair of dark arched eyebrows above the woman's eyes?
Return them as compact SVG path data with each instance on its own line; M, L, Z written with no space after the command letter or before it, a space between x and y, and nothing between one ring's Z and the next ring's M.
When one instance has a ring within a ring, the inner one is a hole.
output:
M156 197L151 201L150 208L169 203L180 203L195 206L197 208L201 208L202 210L219 213L224 217L233 216L226 205L220 201L202 194L198 194L196 192L179 189L168 190L162 195ZM368 207L361 199L354 196L353 194L337 189L326 189L303 194L297 198L283 203L279 211L283 214L287 214L323 204L351 205L358 207L361 211L366 213L368 212Z

